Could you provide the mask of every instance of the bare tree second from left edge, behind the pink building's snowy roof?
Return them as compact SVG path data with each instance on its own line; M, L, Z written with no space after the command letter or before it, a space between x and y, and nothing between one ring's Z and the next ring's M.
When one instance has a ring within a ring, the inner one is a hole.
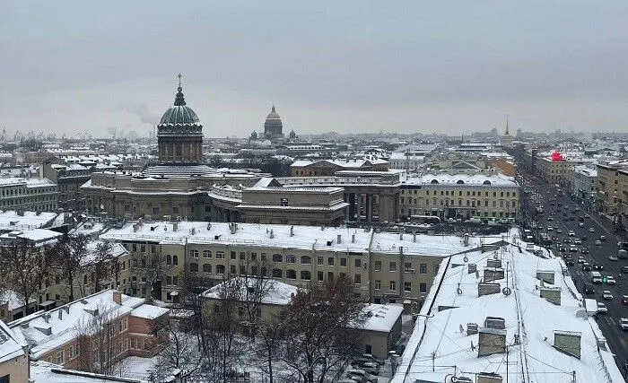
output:
M48 254L53 259L53 264L58 267L70 289L68 300L74 300L74 278L83 266L83 261L88 255L88 237L79 234L76 236L65 235L57 244L50 248Z

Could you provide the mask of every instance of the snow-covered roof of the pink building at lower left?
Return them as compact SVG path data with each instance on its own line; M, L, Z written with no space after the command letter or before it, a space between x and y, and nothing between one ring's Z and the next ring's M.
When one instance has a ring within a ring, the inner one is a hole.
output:
M94 329L85 326L94 315L104 316L107 321L132 314L134 309L162 312L162 308L144 303L143 298L121 294L122 304L113 299L113 290L104 290L74 300L70 303L49 311L38 311L27 317L16 319L9 324L14 333L22 335L31 344L31 353L37 358L57 347L74 340L80 333L89 334ZM95 310L98 309L98 312ZM145 316L143 318L146 318ZM81 328L84 327L84 328Z

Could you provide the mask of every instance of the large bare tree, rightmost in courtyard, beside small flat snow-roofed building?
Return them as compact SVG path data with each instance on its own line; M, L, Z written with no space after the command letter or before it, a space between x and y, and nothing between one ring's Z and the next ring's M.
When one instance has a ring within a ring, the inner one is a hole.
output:
M362 323L362 301L353 298L346 277L311 283L298 292L284 322L281 360L306 383L322 383L353 352L355 339L346 328Z

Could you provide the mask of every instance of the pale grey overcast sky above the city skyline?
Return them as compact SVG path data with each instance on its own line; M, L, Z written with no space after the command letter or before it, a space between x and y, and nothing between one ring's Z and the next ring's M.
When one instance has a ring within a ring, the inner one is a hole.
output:
M4 3L4 4L3 4ZM0 127L628 131L628 1L0 1Z

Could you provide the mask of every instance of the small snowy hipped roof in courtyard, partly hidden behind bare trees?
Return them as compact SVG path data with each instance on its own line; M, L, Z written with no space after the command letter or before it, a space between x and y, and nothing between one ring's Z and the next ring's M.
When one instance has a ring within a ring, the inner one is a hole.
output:
M272 305L290 304L292 296L299 292L299 288L292 284L276 281L275 279L257 278L254 276L237 276L222 283L216 284L201 295L207 299L220 300L222 292L231 287L240 288L238 300L251 301L261 298L261 303ZM261 290L261 292L256 291ZM258 294L262 293L259 297Z

